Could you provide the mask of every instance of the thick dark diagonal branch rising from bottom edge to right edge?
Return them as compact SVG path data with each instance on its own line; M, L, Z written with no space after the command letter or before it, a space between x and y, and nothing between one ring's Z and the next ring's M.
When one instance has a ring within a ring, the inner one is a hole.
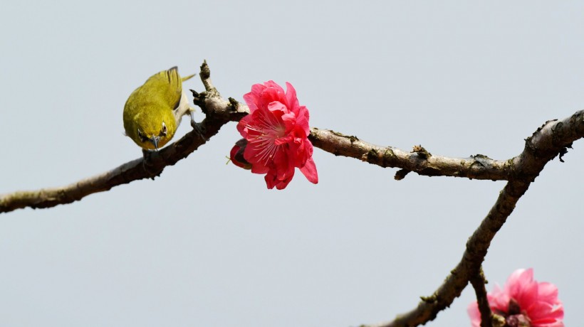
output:
M513 159L513 179L499 194L481 225L466 242L466 250L457 267L452 270L444 283L432 296L422 297L417 308L397 316L389 323L372 326L412 327L433 320L439 311L446 309L469 283L471 277L479 273L486 252L496 232L501 229L521 195L543 170L543 167L572 142L584 137L584 111L579 111L561 121L546 122L532 136L526 139L523 152Z

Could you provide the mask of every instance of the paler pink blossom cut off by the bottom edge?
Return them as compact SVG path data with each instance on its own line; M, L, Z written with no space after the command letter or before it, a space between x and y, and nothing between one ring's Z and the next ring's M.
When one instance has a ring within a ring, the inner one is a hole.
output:
M494 314L505 318L509 327L563 327L564 309L558 299L558 288L533 280L533 269L517 269L503 289L495 286L487 294ZM481 326L481 313L475 302L467 309L473 327Z

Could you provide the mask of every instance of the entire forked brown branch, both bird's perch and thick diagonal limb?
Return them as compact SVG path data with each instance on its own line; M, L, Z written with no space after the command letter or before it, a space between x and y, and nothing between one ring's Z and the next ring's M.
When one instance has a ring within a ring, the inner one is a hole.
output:
M246 105L221 97L210 79L207 63L201 66L201 80L205 91L192 90L194 104L201 107L205 119L194 125L194 130L178 141L157 152L149 152L97 176L85 178L61 188L43 188L38 191L19 191L0 196L0 213L19 208L49 208L72 203L86 195L108 191L110 188L143 178L155 178L166 166L186 158L219 132L227 122L239 121L249 113ZM519 198L527 191L543 167L553 158L563 154L573 141L584 137L584 111L579 111L561 121L546 122L526 139L523 152L506 161L489 159L483 155L466 159L434 156L422 146L404 151L392 146L375 146L355 136L345 136L326 129L311 129L310 139L314 146L336 156L348 156L381 167L401 168L396 179L402 179L410 171L424 176L454 176L493 181L509 181L499 194L481 225L466 243L461 261L432 296L423 296L412 311L402 314L389 323L368 326L418 326L434 319L439 311L447 308L460 296L469 281L480 272L480 267L496 232L511 215Z

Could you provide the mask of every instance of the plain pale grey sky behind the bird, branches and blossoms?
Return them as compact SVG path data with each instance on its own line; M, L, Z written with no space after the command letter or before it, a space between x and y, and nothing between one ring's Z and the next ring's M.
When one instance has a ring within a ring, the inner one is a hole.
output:
M97 3L99 2L99 4ZM207 59L224 97L291 82L311 126L509 159L584 107L584 3L10 1L0 11L0 193L136 159L127 96ZM202 90L198 79L185 87ZM202 119L197 114L197 119ZM189 130L179 129L178 137ZM235 124L155 181L0 215L1 326L355 326L439 286L504 182L410 174L315 149L318 185L226 165ZM584 142L495 237L492 289L533 267L580 321ZM470 326L471 287L428 326Z

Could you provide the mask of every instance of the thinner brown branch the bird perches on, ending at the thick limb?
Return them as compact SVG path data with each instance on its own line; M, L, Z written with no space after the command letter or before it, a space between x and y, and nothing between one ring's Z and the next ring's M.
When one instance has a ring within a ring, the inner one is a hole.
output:
M206 141L217 134L227 122L236 122L249 113L249 108L236 100L225 100L212 84L207 63L201 66L200 77L205 91L192 90L194 104L201 107L205 119L192 132L164 149L145 155L113 168L97 176L85 178L58 188L42 188L36 191L17 191L0 196L0 213L19 208L51 208L72 203L87 195L108 191L115 186L144 178L160 176L166 166L187 158ZM202 135L199 131L203 131ZM414 171L424 176L455 176L492 181L509 181L516 174L515 159L497 161L477 154L465 159L435 156L422 146L413 151L404 151L392 146L376 146L361 141L355 136L345 136L327 129L311 129L309 136L313 145L336 156L349 156L381 167L401 168L395 179L404 178Z

